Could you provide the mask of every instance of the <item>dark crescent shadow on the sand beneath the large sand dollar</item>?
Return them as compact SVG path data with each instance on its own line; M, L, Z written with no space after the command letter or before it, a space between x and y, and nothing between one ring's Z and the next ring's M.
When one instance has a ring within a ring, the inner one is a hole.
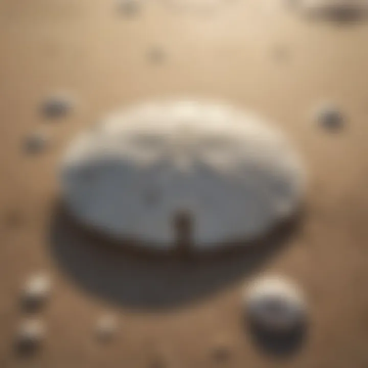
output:
M198 254L107 241L57 205L51 253L73 281L98 297L127 308L160 310L194 302L255 272L288 243L300 219L301 213L255 243L234 242L226 250Z

